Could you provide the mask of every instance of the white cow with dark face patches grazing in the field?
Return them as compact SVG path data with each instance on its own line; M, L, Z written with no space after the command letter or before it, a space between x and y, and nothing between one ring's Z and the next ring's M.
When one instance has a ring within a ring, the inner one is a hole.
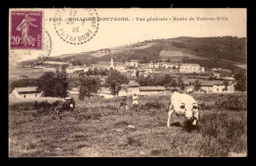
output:
M170 96L170 106L168 111L167 127L171 114L183 115L187 120L193 120L193 125L197 124L199 111L197 101L189 94L174 91Z

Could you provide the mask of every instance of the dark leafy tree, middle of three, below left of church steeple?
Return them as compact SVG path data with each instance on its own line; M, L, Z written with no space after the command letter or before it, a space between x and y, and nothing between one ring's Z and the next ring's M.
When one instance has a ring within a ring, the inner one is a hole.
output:
M85 96L90 96L92 93L97 93L97 90L100 86L100 80L95 77L80 77L79 78L79 94L78 97L80 100L83 100Z

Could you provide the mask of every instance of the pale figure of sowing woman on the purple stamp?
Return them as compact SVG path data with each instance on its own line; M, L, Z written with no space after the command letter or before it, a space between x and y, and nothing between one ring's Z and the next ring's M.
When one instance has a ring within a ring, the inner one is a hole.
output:
M33 38L30 35L30 26L37 28L36 25L33 25L32 22L36 21L35 19L32 19L29 14L25 15L24 20L22 21L22 23L16 28L17 30L22 30L22 44L24 46L27 45L34 45L35 42L35 38Z

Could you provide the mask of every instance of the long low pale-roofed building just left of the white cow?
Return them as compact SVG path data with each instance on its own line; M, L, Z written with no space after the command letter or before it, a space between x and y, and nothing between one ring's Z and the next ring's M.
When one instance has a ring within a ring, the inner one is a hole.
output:
M165 94L164 86L140 86L140 95Z

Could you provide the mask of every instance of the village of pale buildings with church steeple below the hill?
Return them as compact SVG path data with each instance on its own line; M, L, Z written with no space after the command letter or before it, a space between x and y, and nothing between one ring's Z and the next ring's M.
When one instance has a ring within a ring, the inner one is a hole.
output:
M50 68L47 66L55 66ZM42 72L55 72L60 69L61 66L66 66L66 72L68 78L77 79L80 73L87 73L94 70L116 70L122 75L128 78L129 83L122 83L121 89L118 92L118 96L128 96L134 93L139 95L152 95L152 94L167 94L173 89L178 90L180 87L164 87L164 86L144 86L138 83L138 77L169 75L176 82L178 79L182 79L184 83L184 89L182 91L186 93L234 93L234 75L231 71L222 68L213 68L206 70L205 67L196 63L183 63L181 60L172 60L170 62L150 62L140 63L139 60L131 59L129 62L115 62L111 57L110 62L98 62L88 66L73 66L66 62L57 61L44 61L40 66L27 66L26 68L33 68ZM56 68L57 67L57 68ZM224 75L222 75L224 74ZM106 76L98 76L101 84L105 82ZM200 88L195 89L193 85L196 81L199 81ZM79 87L70 87L70 94L79 94ZM36 90L36 87L16 87L13 91L19 98L28 97L41 97L40 91ZM115 97L111 93L109 87L103 85L97 91L98 96L105 98Z

